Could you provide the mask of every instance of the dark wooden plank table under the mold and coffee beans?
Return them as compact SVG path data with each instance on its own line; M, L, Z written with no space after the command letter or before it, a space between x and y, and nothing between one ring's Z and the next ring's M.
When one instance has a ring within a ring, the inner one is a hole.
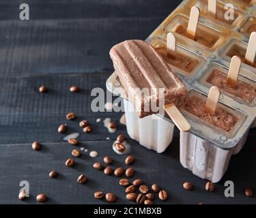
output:
M125 157L111 150L112 142L106 137L113 140L117 134L126 134L126 128L120 125L115 134L109 134L102 122L96 123L106 117L118 121L122 113L91 112L90 92L94 87L104 88L113 72L111 46L122 40L145 39L180 0L28 0L29 21L18 19L20 3L23 1L0 1L0 203L35 204L38 193L46 193L48 204L105 203L93 198L97 190L115 193L117 203L130 203L118 178L92 168L104 155L113 157L114 167L124 166ZM41 84L48 87L48 93L38 93ZM82 91L70 93L72 84ZM70 111L78 115L75 121L66 121ZM93 131L81 133L79 146L99 155L91 158L83 153L74 168L66 168L65 160L74 147L61 140L57 127L68 123L68 133L81 131L81 119L87 119ZM246 198L243 193L245 187L256 190L255 139L255 131L251 131L214 193L205 191L205 181L180 165L177 130L162 154L128 139L137 159L134 178L166 189L167 204L255 204L255 197ZM33 141L42 143L41 151L31 149ZM56 179L48 177L53 169L60 173ZM86 185L76 182L79 174L89 178ZM235 183L235 198L224 197L227 180ZM30 185L31 197L24 202L18 200L20 181ZM194 191L184 191L184 181L192 182Z

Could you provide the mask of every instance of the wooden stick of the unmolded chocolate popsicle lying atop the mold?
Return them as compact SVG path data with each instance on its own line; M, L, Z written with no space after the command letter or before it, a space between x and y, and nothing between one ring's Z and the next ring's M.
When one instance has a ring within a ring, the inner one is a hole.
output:
M175 123L175 125L177 126L178 129L180 129L180 131L190 130L190 124L188 123L188 121L186 121L186 119L184 118L180 110L177 109L175 104L165 104L164 108L167 114L172 119L173 123Z

